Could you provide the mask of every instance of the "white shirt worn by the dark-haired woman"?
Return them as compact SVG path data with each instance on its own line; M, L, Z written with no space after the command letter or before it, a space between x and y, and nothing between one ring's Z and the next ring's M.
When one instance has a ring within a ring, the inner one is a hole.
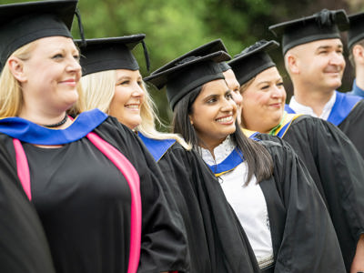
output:
M227 136L227 139L214 149L215 159L207 149L200 148L200 151L208 165L216 165L226 159L234 148L234 143ZM220 185L248 236L260 266L265 260L273 258L268 209L255 176L249 181L248 186L244 186L247 176L248 164L243 162L232 171L221 175Z

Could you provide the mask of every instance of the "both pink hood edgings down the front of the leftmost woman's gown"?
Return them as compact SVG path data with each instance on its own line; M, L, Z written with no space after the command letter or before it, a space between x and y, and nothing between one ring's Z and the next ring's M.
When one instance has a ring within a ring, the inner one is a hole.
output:
M139 265L140 244L142 233L142 205L140 197L140 181L135 167L115 147L108 144L95 133L87 134L87 138L108 158L126 177L131 193L131 217L130 217L130 251L127 273L136 273ZM13 139L17 175L24 188L26 196L32 199L30 191L29 165L26 160L25 151L18 139Z

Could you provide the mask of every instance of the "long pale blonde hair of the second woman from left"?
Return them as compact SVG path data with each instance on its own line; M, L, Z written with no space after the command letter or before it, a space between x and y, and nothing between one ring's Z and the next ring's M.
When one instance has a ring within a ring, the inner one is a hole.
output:
M98 108L109 115L109 106L115 94L116 70L101 71L83 76L81 84L84 91L84 97L81 101L84 102L85 109L78 108L78 113ZM176 139L182 147L185 147L187 150L191 149L191 146L181 136L157 131L156 123L162 125L162 122L157 117L156 106L144 83L142 89L145 95L144 102L140 108L142 122L139 126L136 126L136 130L144 136L154 139Z

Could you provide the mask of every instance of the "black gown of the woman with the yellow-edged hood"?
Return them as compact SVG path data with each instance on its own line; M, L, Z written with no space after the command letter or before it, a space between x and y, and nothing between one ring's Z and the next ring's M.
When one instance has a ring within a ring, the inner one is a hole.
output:
M327 203L349 271L359 235L364 233L364 162L347 136L316 117L298 116L282 137L308 168Z

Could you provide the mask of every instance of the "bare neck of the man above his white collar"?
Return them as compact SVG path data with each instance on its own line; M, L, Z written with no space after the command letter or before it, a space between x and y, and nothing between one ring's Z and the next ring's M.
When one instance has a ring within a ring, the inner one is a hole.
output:
M312 108L317 116L322 114L324 106L329 102L335 90L315 89L312 86L294 86L293 94L296 101L303 105Z

